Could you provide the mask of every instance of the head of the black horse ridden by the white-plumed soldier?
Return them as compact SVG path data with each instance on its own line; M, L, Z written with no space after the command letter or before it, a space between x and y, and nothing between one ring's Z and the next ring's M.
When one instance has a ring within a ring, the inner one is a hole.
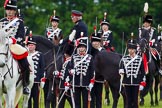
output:
M146 50L149 48L149 43L145 38L141 38L139 40L139 47L140 47L140 51L141 53L146 52Z

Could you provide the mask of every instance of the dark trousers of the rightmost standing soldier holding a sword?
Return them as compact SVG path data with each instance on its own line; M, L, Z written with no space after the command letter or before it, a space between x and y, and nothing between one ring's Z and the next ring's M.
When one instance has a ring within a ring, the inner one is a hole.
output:
M128 103L127 108L138 108L138 91L139 86L125 85L126 100Z

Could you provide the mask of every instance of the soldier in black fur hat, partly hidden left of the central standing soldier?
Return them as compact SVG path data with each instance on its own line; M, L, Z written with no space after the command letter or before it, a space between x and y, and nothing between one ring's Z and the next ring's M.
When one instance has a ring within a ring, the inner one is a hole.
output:
M62 70L61 70L61 72L55 71L55 73L54 73L54 75L56 75L56 77L60 78L60 83L59 83L60 96L59 97L64 95L58 105L58 108L65 107L66 99L68 100L68 102L72 108L72 99L71 98L74 98L74 97L71 96L70 90L65 89L64 84L65 84L65 82L67 82L69 84L71 83L70 79L72 79L72 76L69 74L69 69L70 69L71 55L73 54L73 52L74 52L74 44L67 43L67 45L65 46L65 51L64 51L65 61L64 61L64 64L62 65ZM66 93L63 94L64 92L66 92Z

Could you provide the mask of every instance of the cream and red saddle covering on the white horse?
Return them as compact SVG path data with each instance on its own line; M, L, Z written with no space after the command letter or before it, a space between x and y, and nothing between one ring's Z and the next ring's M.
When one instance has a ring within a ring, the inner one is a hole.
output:
M14 59L21 60L23 58L26 58L28 56L28 51L25 47L22 47L19 44L11 44L9 46L11 54Z

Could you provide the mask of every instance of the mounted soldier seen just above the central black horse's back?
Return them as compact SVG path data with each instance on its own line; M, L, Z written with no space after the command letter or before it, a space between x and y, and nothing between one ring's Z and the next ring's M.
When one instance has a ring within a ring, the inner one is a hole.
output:
M106 19L107 13L104 13L104 19L101 21L101 30L102 30L102 44L107 51L114 51L112 46L113 34L109 30L110 22Z

